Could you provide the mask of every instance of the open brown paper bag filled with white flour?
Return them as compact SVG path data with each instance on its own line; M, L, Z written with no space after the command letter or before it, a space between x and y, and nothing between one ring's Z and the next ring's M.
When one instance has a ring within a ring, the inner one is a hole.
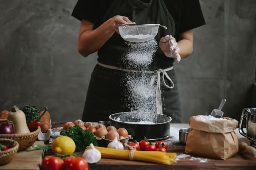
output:
M234 130L238 121L228 117L224 117L225 120L201 120L200 116L189 119L185 152L224 160L236 155L238 139Z

